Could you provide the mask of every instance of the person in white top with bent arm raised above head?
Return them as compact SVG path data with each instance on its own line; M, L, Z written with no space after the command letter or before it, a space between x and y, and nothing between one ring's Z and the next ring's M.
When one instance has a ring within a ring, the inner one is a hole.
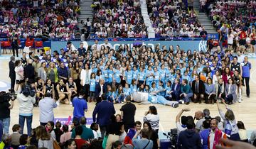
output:
M176 128L177 128L177 133L178 134L181 131L185 131L186 130L187 117L186 116L181 116L184 111L190 111L190 109L181 109L181 111L176 116ZM181 118L181 122L180 122L180 118Z

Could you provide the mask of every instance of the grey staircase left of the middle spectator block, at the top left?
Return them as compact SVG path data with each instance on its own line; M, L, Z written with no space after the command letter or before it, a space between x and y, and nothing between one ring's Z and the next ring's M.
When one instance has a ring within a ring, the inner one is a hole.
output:
M82 27L81 21L85 21L87 18L90 18L92 21L92 8L90 7L92 4L92 0L81 0L80 1L80 15L79 15L79 23L80 28Z

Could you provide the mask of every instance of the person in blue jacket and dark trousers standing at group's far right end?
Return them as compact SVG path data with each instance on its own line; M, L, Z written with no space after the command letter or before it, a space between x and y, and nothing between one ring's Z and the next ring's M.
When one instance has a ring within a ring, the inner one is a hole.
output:
M248 62L248 57L244 57L244 61L241 63L242 65L242 84L246 85L246 96L250 98L250 70L252 69L252 64ZM244 82L245 80L245 82Z

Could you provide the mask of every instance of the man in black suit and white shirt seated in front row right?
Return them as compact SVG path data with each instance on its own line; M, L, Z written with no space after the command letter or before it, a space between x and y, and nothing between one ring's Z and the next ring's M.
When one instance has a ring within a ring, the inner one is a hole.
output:
M192 91L193 91L193 102L199 104L202 103L202 100L204 98L205 86L202 80L199 79L198 75L195 75L195 80L192 82Z

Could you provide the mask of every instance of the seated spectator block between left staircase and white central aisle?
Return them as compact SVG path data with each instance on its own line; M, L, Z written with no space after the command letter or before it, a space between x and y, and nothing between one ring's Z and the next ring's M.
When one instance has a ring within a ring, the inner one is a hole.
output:
M145 38L139 0L94 0L92 31L97 38Z

